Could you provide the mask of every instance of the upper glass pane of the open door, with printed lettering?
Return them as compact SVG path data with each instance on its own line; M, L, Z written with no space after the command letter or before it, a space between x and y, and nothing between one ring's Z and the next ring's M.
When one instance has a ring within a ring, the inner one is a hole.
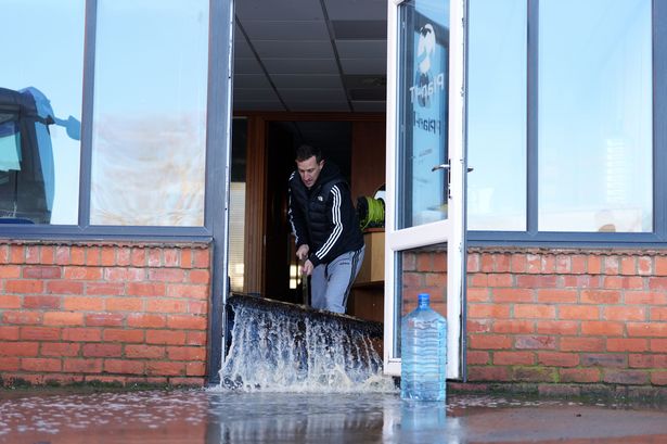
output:
M449 1L409 0L399 49L398 228L447 218Z

